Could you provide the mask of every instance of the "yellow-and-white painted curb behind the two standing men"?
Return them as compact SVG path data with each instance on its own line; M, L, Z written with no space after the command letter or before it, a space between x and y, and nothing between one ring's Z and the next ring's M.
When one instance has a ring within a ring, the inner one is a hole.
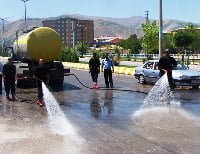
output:
M62 63L64 67L89 70L89 64L71 63L71 62L62 62ZM134 72L135 72L135 68L119 67L119 66L114 67L115 74L133 75Z

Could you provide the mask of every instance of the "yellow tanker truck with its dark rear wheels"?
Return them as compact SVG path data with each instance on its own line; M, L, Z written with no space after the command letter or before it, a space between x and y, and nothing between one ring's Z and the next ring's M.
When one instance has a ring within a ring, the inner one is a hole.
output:
M62 87L64 67L59 61L54 61L61 52L62 43L56 31L47 27L35 28L21 36L16 36L12 57L15 59L17 71L17 87L35 87L31 78L38 60L43 58L50 71L49 85Z

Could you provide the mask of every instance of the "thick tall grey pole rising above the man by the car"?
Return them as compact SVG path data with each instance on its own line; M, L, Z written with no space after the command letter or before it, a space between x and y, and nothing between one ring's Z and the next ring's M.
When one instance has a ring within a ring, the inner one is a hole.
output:
M159 58L162 57L162 37L163 37L162 0L159 0Z

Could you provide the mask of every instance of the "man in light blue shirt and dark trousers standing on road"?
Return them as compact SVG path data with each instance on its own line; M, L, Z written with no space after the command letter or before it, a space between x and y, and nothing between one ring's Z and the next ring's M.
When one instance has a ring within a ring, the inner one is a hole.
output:
M109 84L110 87L113 88L112 72L114 72L114 67L112 60L108 56L108 53L106 53L105 59L102 60L101 67L102 67L102 72L104 71L106 88L109 88Z

